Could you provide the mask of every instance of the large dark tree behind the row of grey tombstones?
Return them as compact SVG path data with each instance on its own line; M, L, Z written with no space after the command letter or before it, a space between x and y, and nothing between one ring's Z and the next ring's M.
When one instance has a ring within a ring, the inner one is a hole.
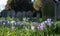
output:
M29 2L30 0L8 0L6 9L13 9L15 11L31 10L33 6Z

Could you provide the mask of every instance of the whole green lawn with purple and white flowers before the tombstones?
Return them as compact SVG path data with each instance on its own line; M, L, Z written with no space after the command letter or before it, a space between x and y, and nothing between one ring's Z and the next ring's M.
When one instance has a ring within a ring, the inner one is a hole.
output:
M0 36L59 36L60 22L48 18L0 18Z

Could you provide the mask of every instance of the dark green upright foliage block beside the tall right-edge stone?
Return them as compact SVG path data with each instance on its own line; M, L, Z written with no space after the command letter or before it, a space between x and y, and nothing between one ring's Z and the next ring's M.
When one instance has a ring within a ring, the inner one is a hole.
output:
M54 18L54 4L51 2L44 3L43 17Z

